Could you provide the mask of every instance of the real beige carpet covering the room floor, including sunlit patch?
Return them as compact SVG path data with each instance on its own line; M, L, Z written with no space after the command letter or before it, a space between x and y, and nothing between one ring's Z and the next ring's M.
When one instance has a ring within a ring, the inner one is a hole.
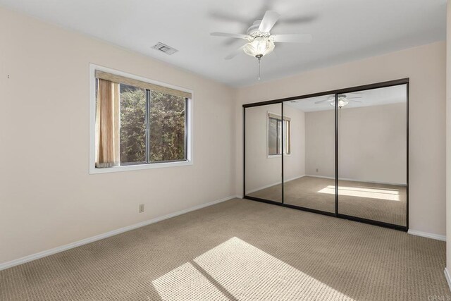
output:
M432 300L444 267L445 242L233 199L0 271L0 300Z

